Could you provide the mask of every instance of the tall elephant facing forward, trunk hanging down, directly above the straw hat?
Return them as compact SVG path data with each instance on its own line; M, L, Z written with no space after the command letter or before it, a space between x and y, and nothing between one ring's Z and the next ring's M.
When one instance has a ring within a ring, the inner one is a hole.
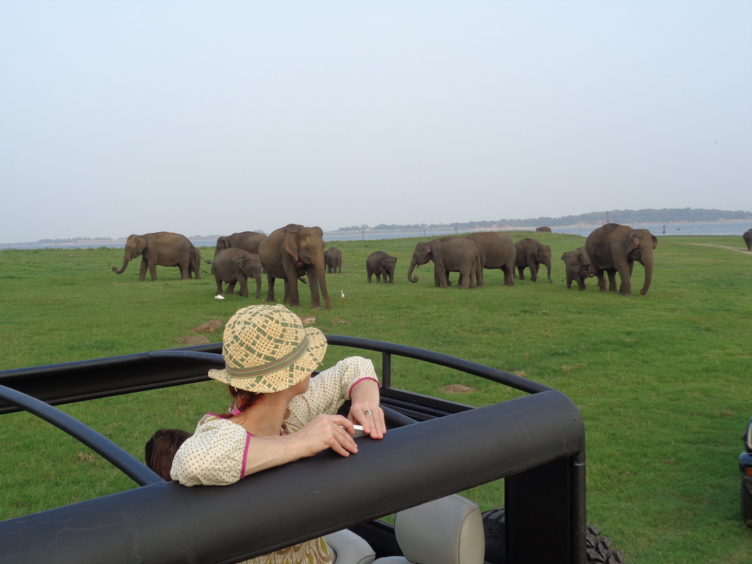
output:
M290 223L288 226L275 229L261 241L259 258L266 268L268 302L274 302L274 280L281 278L284 280L284 302L299 306L298 278L308 274L311 309L323 309L319 301L319 286L326 309L332 309L332 301L326 291L324 240L320 227L304 227Z

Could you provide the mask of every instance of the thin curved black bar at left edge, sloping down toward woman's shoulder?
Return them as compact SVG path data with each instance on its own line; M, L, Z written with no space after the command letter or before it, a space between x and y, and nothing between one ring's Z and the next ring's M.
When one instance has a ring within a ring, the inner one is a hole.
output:
M5 386L0 386L0 398L29 411L30 414L36 415L48 423L52 423L58 429L62 429L68 435L98 453L139 486L164 482L162 478L141 464L131 453L118 447L110 439L100 435L94 429L90 429L67 413Z

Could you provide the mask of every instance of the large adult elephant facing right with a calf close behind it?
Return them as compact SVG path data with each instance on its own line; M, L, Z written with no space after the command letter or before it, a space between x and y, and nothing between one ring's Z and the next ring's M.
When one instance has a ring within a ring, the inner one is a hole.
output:
M632 268L635 260L645 268L645 282L640 293L644 296L650 290L653 280L653 249L658 246L658 239L647 229L632 229L618 223L606 223L599 227L585 241L587 256L598 277L598 287L606 291L603 273L608 273L608 291L616 292L616 273L621 284L619 293L632 294Z

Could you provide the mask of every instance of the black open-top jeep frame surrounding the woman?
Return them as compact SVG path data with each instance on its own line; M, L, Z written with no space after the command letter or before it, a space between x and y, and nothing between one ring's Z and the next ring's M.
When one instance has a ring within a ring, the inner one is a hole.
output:
M379 517L501 478L509 564L586 562L584 425L571 400L453 356L326 338L330 345L381 352L387 437L358 439L359 453L347 459L325 451L226 487L162 481L52 407L205 381L209 368L224 364L220 343L0 371L0 414L26 410L44 418L142 486L0 522L0 562L232 564L344 528L365 538L377 556L400 555L393 527ZM397 390L391 387L393 355L530 395L472 408ZM208 534L213 518L221 526Z

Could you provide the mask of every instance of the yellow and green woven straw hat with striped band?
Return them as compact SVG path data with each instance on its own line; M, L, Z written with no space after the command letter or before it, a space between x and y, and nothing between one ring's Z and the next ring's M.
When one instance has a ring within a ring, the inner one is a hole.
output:
M225 326L224 370L209 378L238 390L279 392L295 386L319 367L326 338L284 305L250 305L235 312Z

